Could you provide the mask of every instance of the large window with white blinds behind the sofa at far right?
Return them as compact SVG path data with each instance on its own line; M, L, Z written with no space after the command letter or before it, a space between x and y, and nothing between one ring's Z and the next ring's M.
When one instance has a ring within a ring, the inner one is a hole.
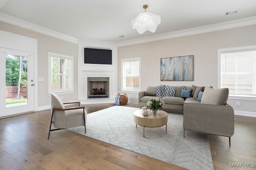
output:
M219 50L220 87L230 96L256 97L256 46Z

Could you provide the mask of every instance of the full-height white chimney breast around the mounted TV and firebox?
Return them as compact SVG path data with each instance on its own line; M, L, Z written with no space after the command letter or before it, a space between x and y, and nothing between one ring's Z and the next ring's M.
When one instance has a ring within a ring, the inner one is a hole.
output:
M81 104L115 103L118 94L117 43L78 40L78 100ZM84 64L84 48L111 49L112 64ZM109 98L89 98L87 77L109 77Z

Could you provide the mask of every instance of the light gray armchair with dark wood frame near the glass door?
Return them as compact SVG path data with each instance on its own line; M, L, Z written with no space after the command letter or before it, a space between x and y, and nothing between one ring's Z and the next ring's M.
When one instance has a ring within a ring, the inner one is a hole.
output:
M64 104L78 104L78 107L64 107ZM51 131L60 129L67 129L71 127L84 126L86 133L86 119L87 112L84 107L80 107L80 102L62 103L62 100L56 95L51 93L51 108L52 117L50 122L50 129L48 139ZM51 127L56 129L51 129Z

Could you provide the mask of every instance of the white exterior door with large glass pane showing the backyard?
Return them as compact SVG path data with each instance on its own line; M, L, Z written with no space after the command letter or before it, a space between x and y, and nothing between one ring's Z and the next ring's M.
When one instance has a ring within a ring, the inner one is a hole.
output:
M34 53L0 48L0 117L34 111Z

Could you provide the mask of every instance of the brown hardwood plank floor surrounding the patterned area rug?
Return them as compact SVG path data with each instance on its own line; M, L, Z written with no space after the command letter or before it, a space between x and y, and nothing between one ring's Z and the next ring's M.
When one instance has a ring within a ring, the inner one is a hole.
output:
M92 113L114 104L83 106ZM0 119L0 170L184 169L67 130L52 131L47 140L50 116L48 109ZM231 147L228 137L208 139L214 169L256 169L241 168L256 164L256 117L235 115Z

